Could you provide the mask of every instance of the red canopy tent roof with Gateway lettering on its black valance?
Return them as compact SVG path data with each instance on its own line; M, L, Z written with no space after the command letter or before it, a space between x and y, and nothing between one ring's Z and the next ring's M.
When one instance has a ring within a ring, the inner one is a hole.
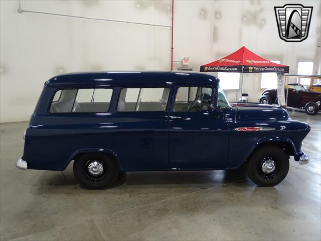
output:
M201 72L288 73L289 66L264 59L243 46L234 53L201 66Z

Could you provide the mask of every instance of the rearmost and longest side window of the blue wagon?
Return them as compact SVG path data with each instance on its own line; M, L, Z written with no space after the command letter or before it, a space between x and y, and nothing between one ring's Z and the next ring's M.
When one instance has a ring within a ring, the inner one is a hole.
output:
M50 105L50 113L107 112L112 89L58 90Z

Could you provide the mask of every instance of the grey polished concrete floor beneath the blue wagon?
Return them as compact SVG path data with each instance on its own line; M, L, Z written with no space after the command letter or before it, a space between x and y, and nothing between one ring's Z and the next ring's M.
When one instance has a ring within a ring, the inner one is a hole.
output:
M320 240L321 113L290 110L312 131L286 179L255 186L244 170L128 173L85 190L64 172L18 170L28 123L1 125L1 240ZM57 150L58 151L58 150Z

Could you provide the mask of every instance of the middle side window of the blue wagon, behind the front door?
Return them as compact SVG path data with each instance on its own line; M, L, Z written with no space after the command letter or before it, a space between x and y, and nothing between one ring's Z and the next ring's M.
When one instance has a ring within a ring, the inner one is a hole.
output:
M120 91L117 111L164 111L169 94L169 88L124 88Z

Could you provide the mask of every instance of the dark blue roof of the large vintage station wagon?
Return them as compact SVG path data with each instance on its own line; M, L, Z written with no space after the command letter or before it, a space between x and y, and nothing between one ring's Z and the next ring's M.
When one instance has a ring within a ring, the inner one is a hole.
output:
M104 71L61 74L49 79L45 85L171 85L211 84L219 79L200 72L184 71Z

